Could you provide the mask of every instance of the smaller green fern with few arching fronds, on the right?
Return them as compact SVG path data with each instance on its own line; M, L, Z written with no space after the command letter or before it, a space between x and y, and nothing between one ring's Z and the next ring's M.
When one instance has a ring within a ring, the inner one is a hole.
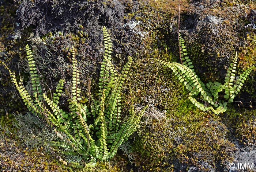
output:
M239 77L236 77L235 72L237 68L237 53L233 62L230 63L225 77L225 83L214 81L208 82L206 85L200 81L196 75L191 60L188 58L187 50L185 49L184 39L179 35L179 44L181 49L180 63L170 63L159 59L155 59L164 66L169 67L173 73L178 77L178 80L184 84L189 91L189 100L199 109L206 111L212 110L215 114L223 113L227 110L227 103L233 102L233 99L242 89L242 86L254 69L254 66L244 70ZM203 103L197 101L201 100Z

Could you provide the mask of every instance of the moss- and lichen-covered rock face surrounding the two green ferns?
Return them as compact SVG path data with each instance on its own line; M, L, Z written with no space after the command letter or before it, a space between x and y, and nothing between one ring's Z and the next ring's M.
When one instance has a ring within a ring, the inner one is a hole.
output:
M23 3L25 2L23 1ZM41 36L41 39L35 36L30 37L30 43L38 62L42 59L45 61L47 58L53 59L49 63L47 61L45 64L41 63L40 66L42 74L49 74L45 76L45 82L49 83L50 88L55 87L54 84L60 76L65 75L67 79L70 79L68 65L71 62L68 51L74 45L79 54L78 60L81 62L79 68L84 73L83 81L81 81L84 91L83 101L87 101L89 79L92 86L91 91L97 87L99 62L102 60L102 35L100 34L101 26L98 23L103 23L111 28L109 31L114 45L113 56L116 57L114 65L117 68L122 66L127 55L133 55L134 59L123 90L123 103L125 104L123 109L127 110L131 99L134 99L138 105L137 109L151 103L155 112L158 112L156 115L163 114L163 111L166 110L163 118L150 116L149 119L146 115L143 117L140 129L133 134L129 141L133 155L131 162L128 155L123 155L120 150L110 162L98 163L97 167L84 168L83 171L176 172L188 171L190 167L195 167L198 171L210 171L211 169L227 171L227 165L232 162L233 154L237 149L233 143L234 140L238 139L241 145L255 146L256 118L255 110L253 110L256 95L253 78L255 73L252 73L251 79L235 102L229 105L229 110L216 116L211 112L195 109L187 99L187 90L181 83L178 83L172 72L151 59L159 58L169 62L178 62L177 1L118 1L120 5L118 8L114 5L114 1L88 2L91 3L90 7L106 8L108 13L102 10L94 11L94 8L89 8L86 4L80 8L78 3L71 7L70 5L65 6L59 1L51 1L49 9L68 11L68 8L72 8L73 12L77 11L74 16L83 16L85 9L87 10L86 14L95 12L95 16L90 15L88 20L72 16L72 20L76 21L75 25L70 26L67 22L65 26L68 27L63 27L63 29L59 29L59 25L49 24L56 20L54 18L46 19L48 23L44 23L43 20L39 20L40 16L32 20L18 13L23 27L34 24L21 32L22 39L10 39L11 37L5 36L8 34L15 36L18 33L18 30L12 30L17 17L15 15L16 8L13 8L15 11L11 11L11 8L14 7L13 4L4 4L5 6L2 5L0 8L1 13L4 14L2 18L4 20L1 20L3 27L1 27L0 35L0 58L7 62L13 71L16 71L16 76L19 76L18 61L25 56L23 47L29 37L28 32L34 32ZM40 3L33 4L32 1L29 3L33 5L29 12L30 15L37 11L37 8L47 13L46 8L37 6ZM255 30L251 27L244 27L247 24L255 23L253 10L256 7L252 1L233 1L232 3L215 1L212 3L207 0L188 3L182 0L181 3L181 34L184 36L195 71L203 81L223 82L226 67L236 51L240 57L241 67L255 64ZM55 8L54 4L59 7ZM244 5L240 6L241 4ZM19 9L28 9L28 7L24 5ZM124 11L115 12L116 10ZM115 18L115 16L117 17ZM58 17L60 16L58 15ZM68 21L72 23L71 20ZM93 21L90 27L86 27L88 21ZM121 27L122 24L129 23L129 21L140 21L141 23L136 26L137 30L132 30L128 26ZM64 33L55 34L55 31L64 31ZM145 32L144 37L139 34L143 31ZM48 47L45 47L40 40L46 42ZM64 65L59 64L58 60L62 60L61 64ZM0 109L2 126L0 148L3 148L0 154L0 165L2 170L78 170L69 167L69 164L61 163L59 155L55 155L55 153L52 155L49 150L46 151L43 144L38 143L37 149L31 145L26 149L27 145L15 134L19 133L20 129L13 125L15 119L11 115L17 110L24 112L22 111L24 107L17 95L14 94L15 90L7 71L3 70L2 66L0 67L3 71L1 78L4 78L1 79L0 87L2 100L0 102L3 104L3 109ZM23 69L21 73L26 77ZM53 85L50 83L51 81ZM68 88L67 82L66 92L69 92ZM129 89L132 90L131 93ZM61 103L64 105L64 100ZM8 118L6 112L10 114Z

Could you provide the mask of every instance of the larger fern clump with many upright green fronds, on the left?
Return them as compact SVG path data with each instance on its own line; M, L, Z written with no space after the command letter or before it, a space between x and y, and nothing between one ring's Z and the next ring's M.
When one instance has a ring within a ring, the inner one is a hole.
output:
M118 74L111 62L112 43L105 27L103 27L103 39L105 54L99 74L98 98L91 95L91 104L89 105L80 103L82 100L79 88L80 72L77 67L75 48L73 47L71 50L72 96L68 99L69 112L65 112L59 106L59 98L63 94L65 80L60 79L55 93L50 99L42 89L41 78L37 73L35 60L28 45L26 52L29 61L32 96L23 86L22 79L18 82L15 74L2 62L10 72L12 82L28 109L52 124L57 136L63 140L63 142L55 142L55 144L63 148L72 148L74 152L63 153L82 156L88 166L94 166L97 160L112 158L123 141L135 132L146 108L140 113L135 113L134 106L131 105L128 117L121 119L121 89L132 58L128 57L128 62Z

